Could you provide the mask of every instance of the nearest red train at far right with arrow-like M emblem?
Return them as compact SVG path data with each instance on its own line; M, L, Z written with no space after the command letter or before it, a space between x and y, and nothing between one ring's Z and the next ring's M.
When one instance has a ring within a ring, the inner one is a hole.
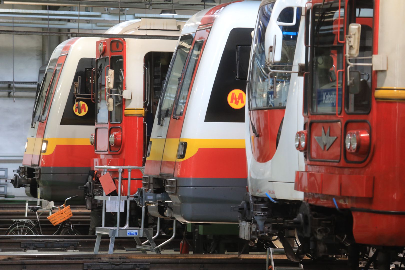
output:
M353 269L360 253L386 270L403 253L405 38L394 29L404 9L401 0L306 3L305 120L295 141L304 202L286 224L301 254L347 250Z

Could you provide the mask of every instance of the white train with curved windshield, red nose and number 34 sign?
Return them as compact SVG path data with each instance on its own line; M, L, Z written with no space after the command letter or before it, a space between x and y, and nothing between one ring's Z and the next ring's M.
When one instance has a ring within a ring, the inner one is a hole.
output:
M302 3L263 0L253 36L245 108L248 192L232 209L240 213L240 237L252 244L256 239L276 247L295 242L294 230L286 230L283 220L295 217L303 200L303 192L294 190L295 171L305 165L294 147L295 132L303 126ZM271 53L269 46L275 48ZM294 256L292 250L286 253Z

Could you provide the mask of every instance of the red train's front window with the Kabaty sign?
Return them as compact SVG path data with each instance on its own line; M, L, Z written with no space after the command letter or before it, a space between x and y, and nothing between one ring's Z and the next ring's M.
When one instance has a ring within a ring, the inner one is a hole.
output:
M341 5L343 6L343 4ZM339 18L340 13L340 18ZM339 3L313 6L311 32L311 113L338 113L342 104L344 10ZM339 24L340 23L340 24ZM338 96L336 95L338 94Z

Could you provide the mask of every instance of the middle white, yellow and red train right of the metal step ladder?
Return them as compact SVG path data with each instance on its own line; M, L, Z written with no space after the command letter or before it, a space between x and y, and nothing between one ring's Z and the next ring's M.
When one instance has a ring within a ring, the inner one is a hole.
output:
M256 1L185 24L159 102L143 176L149 213L182 223L238 223L246 192L244 109ZM148 195L149 197L149 195ZM153 208L155 208L153 210Z

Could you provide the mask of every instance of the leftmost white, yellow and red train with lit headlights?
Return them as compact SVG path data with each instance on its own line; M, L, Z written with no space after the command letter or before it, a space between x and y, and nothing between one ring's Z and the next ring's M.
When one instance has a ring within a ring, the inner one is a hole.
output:
M78 107L77 88L91 96L97 38L72 38L53 51L37 89L22 166L11 182L28 196L71 204L84 202L84 185L95 157L89 136L94 130L94 102ZM78 78L83 78L78 81Z

